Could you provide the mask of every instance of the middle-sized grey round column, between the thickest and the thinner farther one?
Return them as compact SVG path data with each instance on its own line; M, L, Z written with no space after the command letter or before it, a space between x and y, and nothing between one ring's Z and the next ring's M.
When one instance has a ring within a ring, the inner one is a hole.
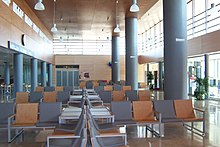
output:
M125 19L126 38L126 85L132 90L138 89L138 57L137 57L137 18Z

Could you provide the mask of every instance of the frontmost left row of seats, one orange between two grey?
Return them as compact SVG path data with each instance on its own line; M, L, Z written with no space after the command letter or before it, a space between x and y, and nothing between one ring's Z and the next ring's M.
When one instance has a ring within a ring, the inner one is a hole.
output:
M16 105L0 103L0 129L8 130L8 142L11 142L24 131L24 128L54 128L59 122L61 110L61 102Z

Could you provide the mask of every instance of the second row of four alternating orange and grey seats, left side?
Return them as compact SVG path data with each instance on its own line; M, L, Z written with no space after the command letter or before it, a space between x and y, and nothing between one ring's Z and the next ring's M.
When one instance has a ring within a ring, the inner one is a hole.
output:
M38 103L38 102L62 102L67 104L70 98L68 91L53 91L53 92L17 92L15 102L19 103Z

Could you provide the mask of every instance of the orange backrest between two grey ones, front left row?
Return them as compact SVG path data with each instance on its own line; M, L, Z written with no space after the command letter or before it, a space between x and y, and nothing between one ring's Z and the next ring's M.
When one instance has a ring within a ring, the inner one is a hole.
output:
M16 105L15 123L34 124L38 118L38 103L23 103Z

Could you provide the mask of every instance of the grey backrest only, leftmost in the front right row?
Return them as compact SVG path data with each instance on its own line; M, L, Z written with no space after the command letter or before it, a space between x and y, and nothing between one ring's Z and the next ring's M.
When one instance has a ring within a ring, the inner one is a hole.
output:
M132 120L132 107L130 101L111 102L111 111L116 121Z

